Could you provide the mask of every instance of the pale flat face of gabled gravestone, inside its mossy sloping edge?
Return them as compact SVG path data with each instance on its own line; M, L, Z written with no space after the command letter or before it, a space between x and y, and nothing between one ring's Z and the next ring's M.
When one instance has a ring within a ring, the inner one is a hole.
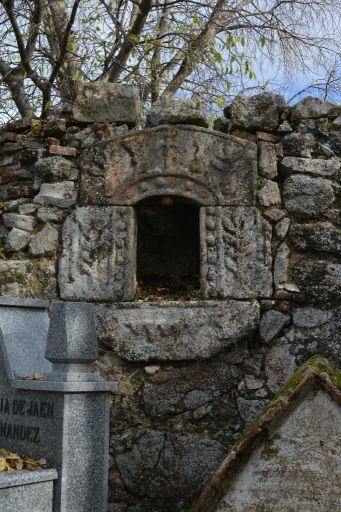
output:
M338 510L340 439L340 407L311 393L253 450L215 512Z

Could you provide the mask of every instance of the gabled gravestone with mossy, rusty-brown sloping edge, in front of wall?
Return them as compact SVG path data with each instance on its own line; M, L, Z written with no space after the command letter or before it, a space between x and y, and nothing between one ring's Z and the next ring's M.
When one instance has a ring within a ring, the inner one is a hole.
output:
M222 462L193 512L336 512L341 372L315 356Z

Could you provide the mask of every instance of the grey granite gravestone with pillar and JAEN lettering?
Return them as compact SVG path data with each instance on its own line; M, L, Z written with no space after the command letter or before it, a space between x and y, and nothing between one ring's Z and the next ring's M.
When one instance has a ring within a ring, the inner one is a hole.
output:
M0 326L0 446L57 470L54 512L106 511L115 383L89 369L92 305L2 298Z

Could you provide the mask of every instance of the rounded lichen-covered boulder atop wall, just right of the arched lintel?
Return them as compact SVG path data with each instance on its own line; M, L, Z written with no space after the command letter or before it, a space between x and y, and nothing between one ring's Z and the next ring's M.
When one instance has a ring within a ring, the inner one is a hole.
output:
M227 109L227 117L238 128L271 132L278 127L284 107L284 98L277 94L264 92L253 97L237 96Z

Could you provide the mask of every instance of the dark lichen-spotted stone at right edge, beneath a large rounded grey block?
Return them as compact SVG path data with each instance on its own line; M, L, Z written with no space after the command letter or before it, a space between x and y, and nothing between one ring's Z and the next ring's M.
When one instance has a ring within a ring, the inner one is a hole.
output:
M290 229L290 240L301 251L341 252L341 229L331 222L294 224Z

